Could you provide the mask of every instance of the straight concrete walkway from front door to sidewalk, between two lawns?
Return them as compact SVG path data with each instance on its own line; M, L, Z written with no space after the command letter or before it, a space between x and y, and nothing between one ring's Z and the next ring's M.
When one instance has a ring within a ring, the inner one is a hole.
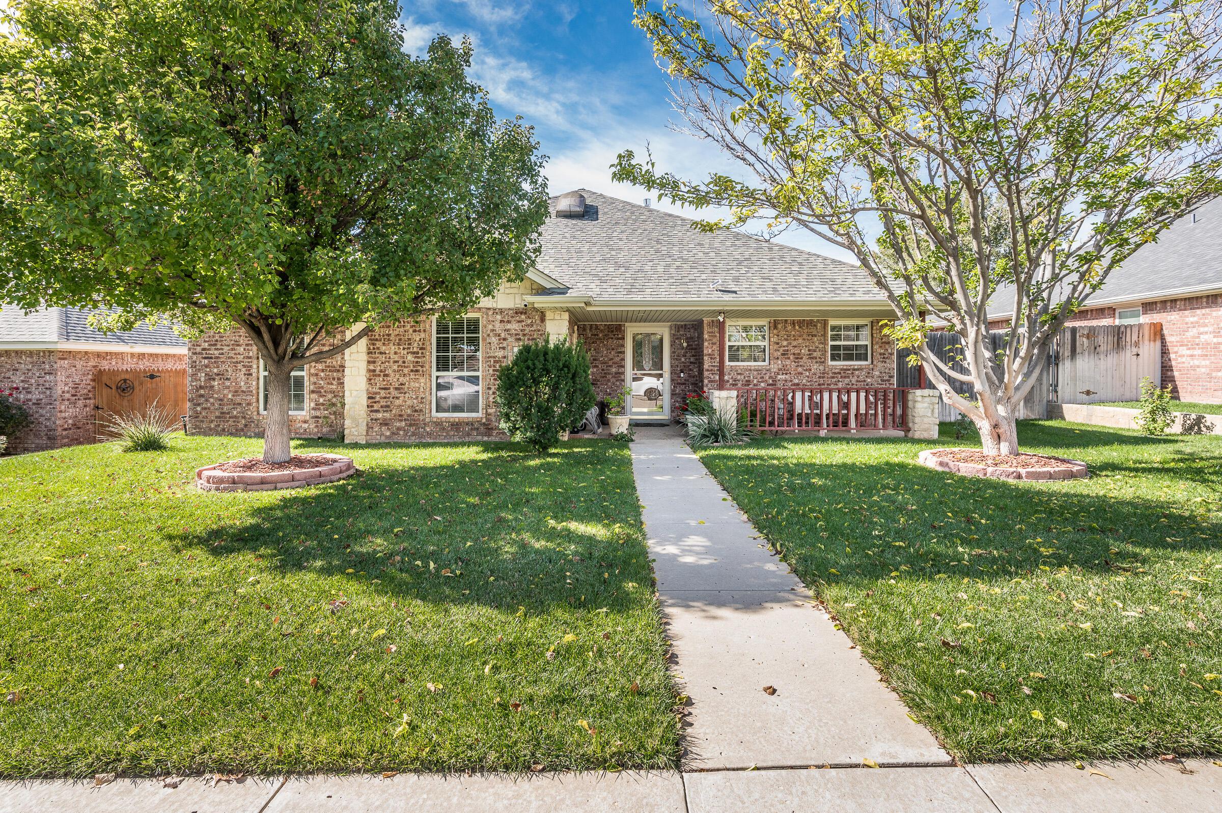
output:
M638 433L632 465L692 698L686 768L952 764L679 438Z

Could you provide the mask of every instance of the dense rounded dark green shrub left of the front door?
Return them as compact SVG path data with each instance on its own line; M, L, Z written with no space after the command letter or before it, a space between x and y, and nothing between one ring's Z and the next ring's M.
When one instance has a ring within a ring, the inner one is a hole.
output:
M523 345L501 367L496 411L501 429L544 452L594 406L590 357L580 342L544 339Z

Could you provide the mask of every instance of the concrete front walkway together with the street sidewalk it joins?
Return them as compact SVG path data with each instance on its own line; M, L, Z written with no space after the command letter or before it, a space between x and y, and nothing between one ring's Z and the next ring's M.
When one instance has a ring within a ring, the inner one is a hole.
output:
M0 813L1222 809L1212 760L954 765L676 433L638 432L632 456L676 671L692 698L684 773L197 778L176 789L9 781Z

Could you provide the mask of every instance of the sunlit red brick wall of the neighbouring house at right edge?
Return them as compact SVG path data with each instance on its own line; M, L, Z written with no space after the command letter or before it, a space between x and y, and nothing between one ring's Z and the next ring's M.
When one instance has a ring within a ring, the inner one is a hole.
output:
M1162 323L1162 385L1180 401L1222 402L1222 295L1145 302Z

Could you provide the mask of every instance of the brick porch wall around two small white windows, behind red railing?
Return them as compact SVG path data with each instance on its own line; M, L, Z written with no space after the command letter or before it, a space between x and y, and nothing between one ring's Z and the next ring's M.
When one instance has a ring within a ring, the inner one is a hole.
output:
M704 385L717 386L720 363L717 320L705 319ZM871 320L869 364L827 362L826 319L769 320L767 364L727 364L726 389L744 386L895 386L896 344L882 335L882 320Z

